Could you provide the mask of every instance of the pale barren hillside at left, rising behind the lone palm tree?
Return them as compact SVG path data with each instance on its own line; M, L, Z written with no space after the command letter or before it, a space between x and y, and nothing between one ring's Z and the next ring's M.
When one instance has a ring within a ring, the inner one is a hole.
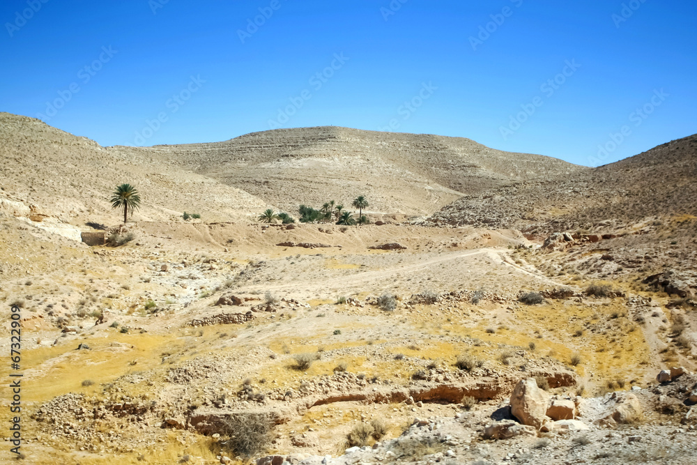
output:
M17 202L10 209L35 206L33 213L72 224L113 223L109 197L121 183L137 186L144 199L137 220L169 220L188 211L229 221L266 206L247 192L171 164L166 153L102 147L9 113L0 113L0 160L0 211Z

